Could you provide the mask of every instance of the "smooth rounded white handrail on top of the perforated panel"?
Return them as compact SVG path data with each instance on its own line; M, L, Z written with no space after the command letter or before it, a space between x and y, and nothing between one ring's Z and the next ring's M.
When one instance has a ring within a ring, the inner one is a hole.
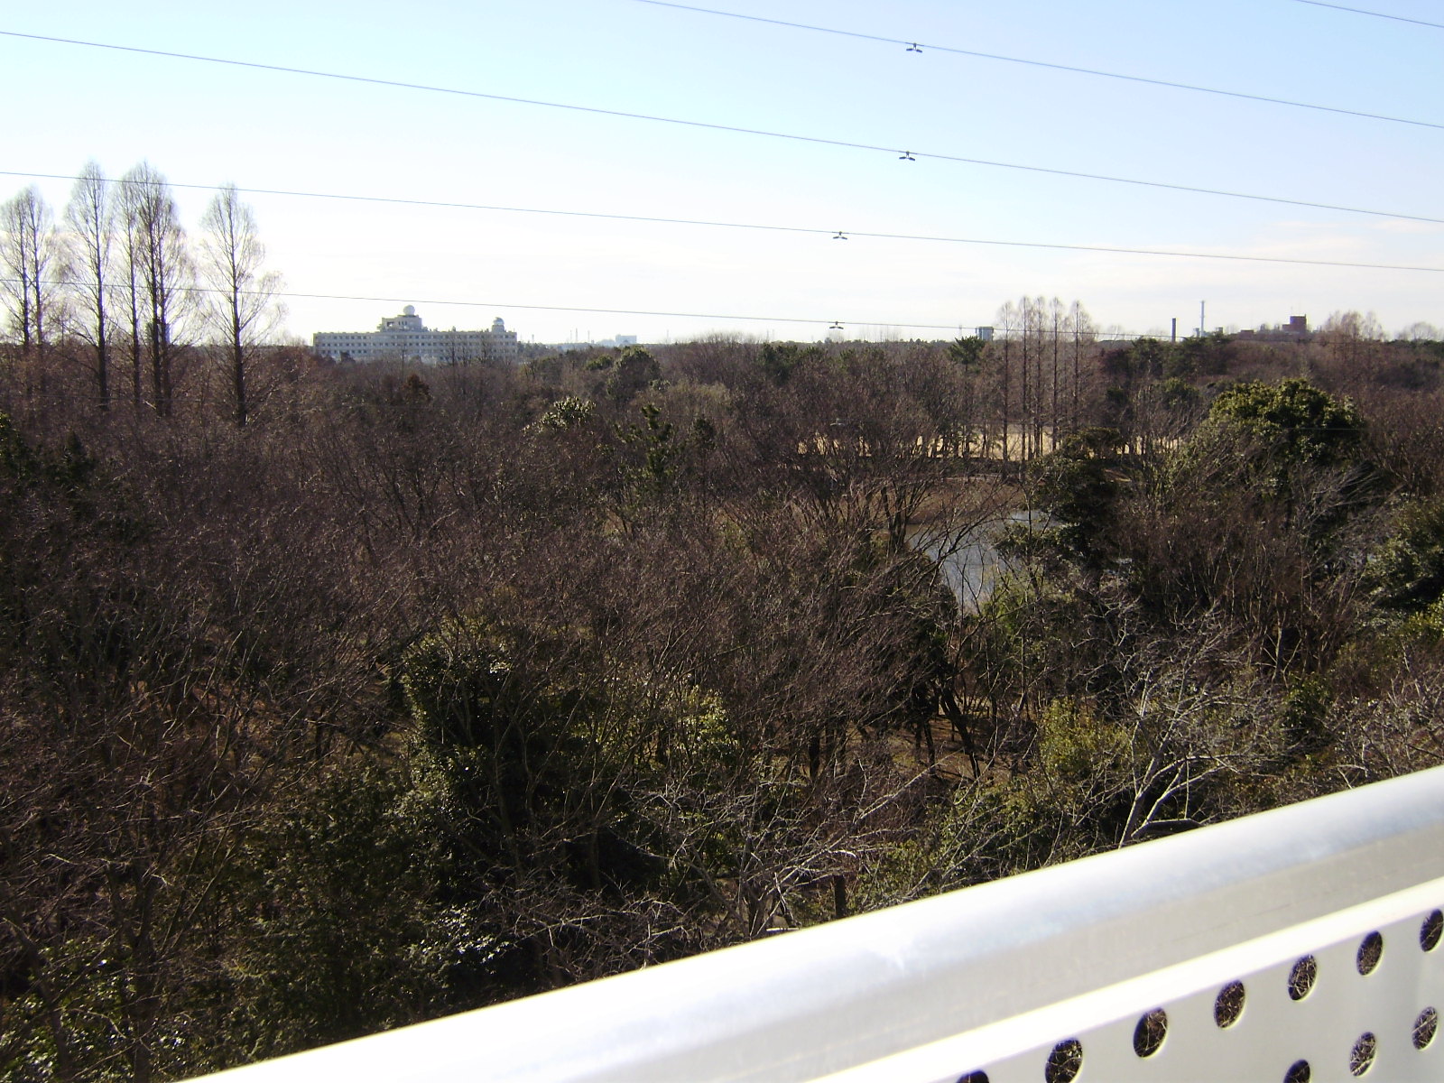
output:
M1095 1014L1132 1011L1100 1008L1097 993L1136 986L1147 1004L1149 975L1216 960L1199 970L1212 982L1240 946L1282 959L1298 950L1289 930L1331 936L1343 914L1341 937L1359 921L1402 918L1440 879L1444 768L1434 768L225 1080L887 1079L869 1066L937 1043L966 1069L959 1057L982 1064L1022 1048L1009 1019L1090 996ZM989 1037L975 1048L969 1035Z

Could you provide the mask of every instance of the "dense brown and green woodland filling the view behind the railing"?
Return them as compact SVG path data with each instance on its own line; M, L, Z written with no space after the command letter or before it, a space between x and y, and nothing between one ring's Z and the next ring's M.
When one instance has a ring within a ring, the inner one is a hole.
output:
M17 334L0 1074L179 1077L1437 762L1444 348L1043 310L261 349L244 426L199 352L103 409ZM1024 508L960 605L934 557Z

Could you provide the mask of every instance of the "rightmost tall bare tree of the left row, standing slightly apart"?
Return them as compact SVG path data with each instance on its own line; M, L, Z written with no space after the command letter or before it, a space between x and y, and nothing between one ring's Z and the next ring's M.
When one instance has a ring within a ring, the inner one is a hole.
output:
M280 321L276 305L280 276L263 271L266 245L256 228L256 215L225 185L201 219L201 273L214 290L208 305L212 326L225 336L235 394L235 423L245 425L245 367L257 342Z

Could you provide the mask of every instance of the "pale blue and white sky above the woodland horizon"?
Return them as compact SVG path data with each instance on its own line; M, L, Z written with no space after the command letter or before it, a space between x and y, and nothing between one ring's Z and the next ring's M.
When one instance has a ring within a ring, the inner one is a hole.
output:
M147 160L193 231L232 182L306 341L403 305L536 342L952 338L1022 296L1125 334L1444 326L1440 0L702 6L16 4L0 198Z

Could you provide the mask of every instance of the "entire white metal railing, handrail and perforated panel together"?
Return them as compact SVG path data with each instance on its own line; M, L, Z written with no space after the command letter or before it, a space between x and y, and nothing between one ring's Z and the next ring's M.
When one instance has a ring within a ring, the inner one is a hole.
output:
M1444 768L224 1083L1444 1080Z

